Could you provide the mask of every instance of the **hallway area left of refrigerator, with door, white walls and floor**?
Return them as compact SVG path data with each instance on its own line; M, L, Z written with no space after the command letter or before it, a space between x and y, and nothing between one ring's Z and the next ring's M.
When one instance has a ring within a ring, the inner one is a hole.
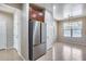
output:
M28 4L0 3L0 61L28 60L26 7Z

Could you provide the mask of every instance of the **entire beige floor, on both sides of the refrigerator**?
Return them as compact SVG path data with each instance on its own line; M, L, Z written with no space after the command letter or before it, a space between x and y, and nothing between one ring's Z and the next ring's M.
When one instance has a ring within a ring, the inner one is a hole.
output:
M23 61L15 50L0 50L0 61ZM86 61L86 46L57 42L37 61Z

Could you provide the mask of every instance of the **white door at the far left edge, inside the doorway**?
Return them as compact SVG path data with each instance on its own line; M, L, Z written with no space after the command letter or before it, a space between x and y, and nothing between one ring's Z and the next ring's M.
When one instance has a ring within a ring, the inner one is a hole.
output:
M0 49L7 48L7 27L5 21L0 16Z

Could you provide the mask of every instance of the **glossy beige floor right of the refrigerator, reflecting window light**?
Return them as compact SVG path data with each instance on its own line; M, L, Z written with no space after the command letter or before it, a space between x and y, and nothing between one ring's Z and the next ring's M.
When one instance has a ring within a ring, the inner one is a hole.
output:
M85 54L85 46L56 42L53 47L37 61L86 61Z

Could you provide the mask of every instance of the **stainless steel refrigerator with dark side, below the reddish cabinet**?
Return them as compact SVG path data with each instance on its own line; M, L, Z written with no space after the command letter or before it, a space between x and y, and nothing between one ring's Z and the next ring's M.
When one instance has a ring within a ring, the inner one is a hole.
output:
M29 21L29 60L37 60L46 53L46 24Z

